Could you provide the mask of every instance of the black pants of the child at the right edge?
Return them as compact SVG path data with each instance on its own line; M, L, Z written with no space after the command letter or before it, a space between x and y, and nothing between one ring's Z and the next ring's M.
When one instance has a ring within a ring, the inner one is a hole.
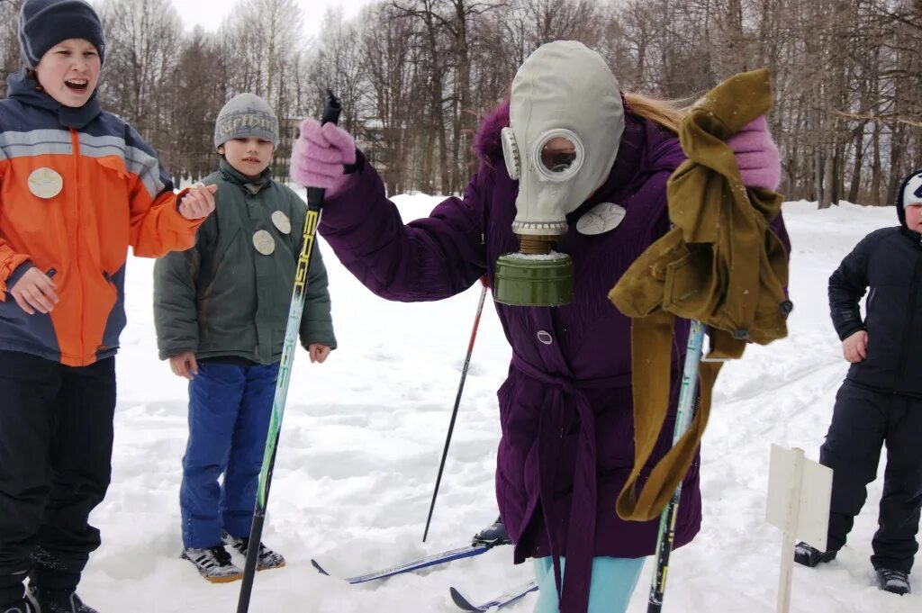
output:
M820 463L833 469L828 548L845 545L855 516L877 477L887 446L883 496L872 546L874 568L909 572L918 550L922 507L922 399L872 391L846 381L835 398L833 423Z

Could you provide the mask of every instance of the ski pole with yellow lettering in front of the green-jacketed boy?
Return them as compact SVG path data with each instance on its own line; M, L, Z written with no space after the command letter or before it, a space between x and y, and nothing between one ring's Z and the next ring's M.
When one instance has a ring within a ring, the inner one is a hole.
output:
M322 124L337 124L342 104L327 90L326 108L321 119ZM246 564L243 566L243 580L240 587L240 599L237 613L247 613L250 608L250 595L253 593L253 580L256 574L256 561L259 558L259 543L263 538L263 524L266 521L266 503L269 500L269 487L272 485L272 471L276 465L278 437L281 433L282 418L285 415L285 399L294 362L295 348L298 346L298 331L301 328L301 312L304 310L304 296L307 290L307 276L311 269L313 239L320 224L320 214L324 207L324 189L307 188L307 216L301 234L301 253L295 268L294 289L291 292L288 325L285 328L285 342L282 346L282 360L278 367L276 394L272 398L272 418L266 436L266 451L263 454L263 467L259 473L259 486L256 489L256 507L253 524L250 525L250 540L246 548Z

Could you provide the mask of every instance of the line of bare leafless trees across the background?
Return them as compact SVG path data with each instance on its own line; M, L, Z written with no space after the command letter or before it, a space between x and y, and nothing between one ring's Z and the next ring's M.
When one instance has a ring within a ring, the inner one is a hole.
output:
M21 65L21 4L0 0L7 76ZM215 116L242 91L276 110L286 176L290 138L329 87L389 191L457 192L477 161L477 116L559 39L597 49L621 88L670 99L768 67L788 197L887 204L922 165L922 0L379 0L355 18L328 14L315 41L295 0L238 0L214 34L183 34L168 0L98 6L103 105L183 177L213 167Z

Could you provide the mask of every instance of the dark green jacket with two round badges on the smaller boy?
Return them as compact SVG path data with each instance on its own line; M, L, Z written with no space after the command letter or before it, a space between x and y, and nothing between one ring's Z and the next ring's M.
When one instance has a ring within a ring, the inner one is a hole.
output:
M168 253L154 265L160 359L193 351L199 360L281 360L307 207L268 171L254 182L223 158L219 171L203 183L219 189L215 212L198 229L195 247ZM337 347L316 243L300 336L304 348Z

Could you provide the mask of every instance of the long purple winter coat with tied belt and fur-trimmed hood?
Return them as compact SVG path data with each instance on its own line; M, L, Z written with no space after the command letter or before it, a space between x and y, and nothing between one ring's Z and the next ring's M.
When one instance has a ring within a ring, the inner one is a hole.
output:
M377 173L360 159L361 170L326 198L319 231L343 265L389 300L434 301L469 288L484 273L492 280L497 257L518 251L511 230L517 183L505 169L498 139L507 124L508 107L484 122L476 144L479 171L463 198L447 198L429 218L404 225ZM615 513L634 452L631 320L608 292L668 230L666 182L684 159L675 136L627 115L608 181L570 216L570 230L555 247L573 258L573 302L553 308L496 303L514 349L498 392L497 501L516 562L566 558L566 613L585 611L593 556L637 558L656 548L657 521L625 522ZM601 235L579 234L576 219L599 202L626 208L621 225ZM671 445L687 337L688 323L680 322L671 410L651 465ZM698 469L695 460L682 484L677 547L701 525Z

